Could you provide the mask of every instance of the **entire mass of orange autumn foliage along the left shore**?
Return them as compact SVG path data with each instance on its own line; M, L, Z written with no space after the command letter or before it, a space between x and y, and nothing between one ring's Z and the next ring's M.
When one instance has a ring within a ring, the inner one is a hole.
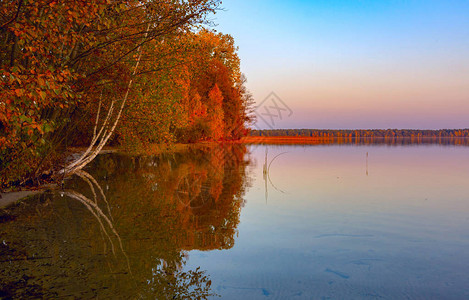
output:
M67 146L245 135L237 48L208 29L219 5L1 1L0 186L39 178Z

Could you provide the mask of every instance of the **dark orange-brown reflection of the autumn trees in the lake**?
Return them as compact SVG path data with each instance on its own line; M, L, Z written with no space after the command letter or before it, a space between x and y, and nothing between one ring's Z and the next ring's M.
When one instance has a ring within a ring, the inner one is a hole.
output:
M0 298L207 298L209 275L184 265L233 247L246 152L101 155L65 190L1 210Z

